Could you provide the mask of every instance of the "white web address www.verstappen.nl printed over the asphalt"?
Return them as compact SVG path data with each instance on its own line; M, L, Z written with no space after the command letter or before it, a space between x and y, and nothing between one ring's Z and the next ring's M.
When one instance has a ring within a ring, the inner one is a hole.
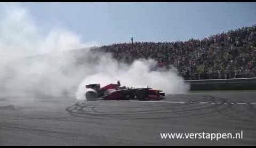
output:
M240 133L160 133L162 139L242 139L243 131Z

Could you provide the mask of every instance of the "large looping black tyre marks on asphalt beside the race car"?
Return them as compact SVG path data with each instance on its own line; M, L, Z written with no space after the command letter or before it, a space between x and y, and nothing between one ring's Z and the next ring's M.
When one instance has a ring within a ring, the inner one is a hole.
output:
M188 96L187 96L188 97ZM190 96L191 97L191 96ZM218 111L224 111L230 108L231 103L223 98L213 96L194 96L199 99L189 101L188 103L176 104L147 104L140 105L137 102L135 106L122 104L111 105L113 102L95 101L95 102L78 102L66 108L66 111L75 117L89 119L166 119L166 118L191 118L193 116L204 116ZM207 101L213 104L199 104ZM107 105L111 103L110 105ZM131 103L131 102L129 102ZM134 102L133 102L134 103ZM142 103L142 102L141 102ZM216 108L216 109L215 109Z

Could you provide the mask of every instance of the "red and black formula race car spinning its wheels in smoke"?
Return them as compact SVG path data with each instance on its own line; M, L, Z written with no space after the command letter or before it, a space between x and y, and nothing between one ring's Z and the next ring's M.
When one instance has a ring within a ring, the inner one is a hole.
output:
M91 88L85 93L87 101L101 100L161 100L165 93L152 88L126 88L120 87L120 81L117 84L109 84L100 88L100 84L89 84L86 88Z

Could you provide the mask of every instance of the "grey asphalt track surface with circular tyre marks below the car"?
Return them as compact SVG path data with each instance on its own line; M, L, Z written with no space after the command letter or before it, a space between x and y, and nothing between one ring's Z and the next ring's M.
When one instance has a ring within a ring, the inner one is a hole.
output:
M0 97L0 145L256 145L256 91L192 92L161 101ZM162 139L160 133L240 133Z

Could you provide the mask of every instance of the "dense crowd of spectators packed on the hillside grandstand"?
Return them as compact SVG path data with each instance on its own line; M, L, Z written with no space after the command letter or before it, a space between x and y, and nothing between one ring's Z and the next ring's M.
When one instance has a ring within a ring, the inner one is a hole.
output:
M155 59L158 67L178 69L186 80L256 77L256 26L186 42L133 42L101 46L127 63Z

